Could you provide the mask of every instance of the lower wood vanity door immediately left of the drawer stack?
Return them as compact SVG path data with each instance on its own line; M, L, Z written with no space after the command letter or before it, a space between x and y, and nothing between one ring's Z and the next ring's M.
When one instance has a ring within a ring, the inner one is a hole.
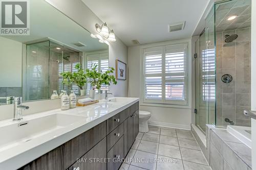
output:
M106 170L106 137L95 145L89 152L77 159L76 163L69 167L74 169Z

